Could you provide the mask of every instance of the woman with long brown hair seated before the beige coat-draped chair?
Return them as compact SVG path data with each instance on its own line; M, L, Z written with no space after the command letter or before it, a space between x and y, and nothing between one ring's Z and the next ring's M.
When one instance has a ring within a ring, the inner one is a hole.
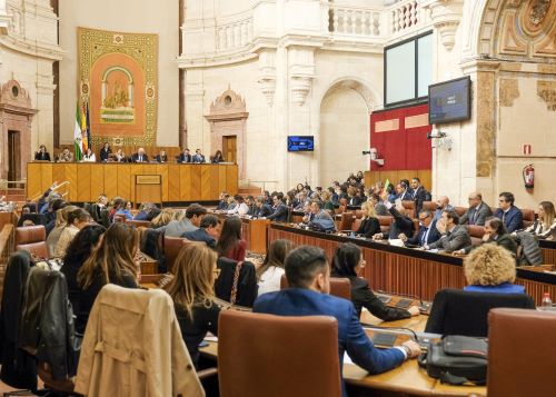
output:
M138 288L139 266L135 257L139 249L136 228L122 222L110 225L102 240L77 274L81 292L76 331L85 333L95 299L107 284Z

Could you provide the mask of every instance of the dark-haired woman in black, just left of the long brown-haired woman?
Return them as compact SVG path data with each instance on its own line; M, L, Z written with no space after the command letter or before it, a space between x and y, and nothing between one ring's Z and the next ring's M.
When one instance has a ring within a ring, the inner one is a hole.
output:
M79 314L79 296L81 292L81 288L77 282L77 274L87 258L91 256L92 249L100 244L105 231L106 228L101 225L86 226L76 235L66 250L60 271L66 276L68 298L76 316Z

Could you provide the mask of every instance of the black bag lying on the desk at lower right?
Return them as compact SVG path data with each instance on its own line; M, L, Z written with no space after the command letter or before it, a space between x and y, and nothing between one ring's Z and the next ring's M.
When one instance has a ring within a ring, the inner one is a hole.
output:
M448 335L418 358L427 375L449 385L486 385L488 344L484 338Z

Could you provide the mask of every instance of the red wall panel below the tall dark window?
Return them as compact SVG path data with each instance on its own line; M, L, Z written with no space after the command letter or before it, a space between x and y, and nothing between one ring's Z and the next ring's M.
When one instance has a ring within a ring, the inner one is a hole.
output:
M379 167L376 162L371 162L370 169L374 171L431 169L433 150L427 133L431 131L433 127L428 125L428 121L419 122L425 118L428 120L427 115L427 105L371 113L370 147L377 149L378 156L385 160L385 165ZM415 116L417 118L411 118ZM408 127L406 127L406 121L410 123ZM377 123L379 131L377 131ZM396 123L397 128L384 127L384 125Z

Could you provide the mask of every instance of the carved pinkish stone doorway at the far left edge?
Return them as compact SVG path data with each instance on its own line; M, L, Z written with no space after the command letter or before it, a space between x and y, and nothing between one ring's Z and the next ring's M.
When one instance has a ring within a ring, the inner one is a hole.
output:
M17 80L2 85L0 90L0 177L11 180L27 177L27 162L31 157L31 121L37 110L31 98ZM11 142L10 142L11 140Z

